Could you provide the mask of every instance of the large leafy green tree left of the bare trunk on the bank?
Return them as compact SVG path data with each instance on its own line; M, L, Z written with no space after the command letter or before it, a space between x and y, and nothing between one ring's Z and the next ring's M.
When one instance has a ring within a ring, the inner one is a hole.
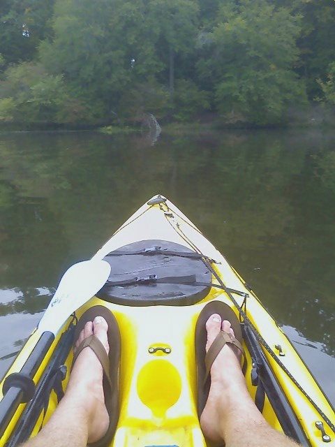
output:
M118 113L122 94L160 69L143 13L138 0L56 1L54 38L40 46L41 60L54 75L64 75L73 96L94 110L97 121Z

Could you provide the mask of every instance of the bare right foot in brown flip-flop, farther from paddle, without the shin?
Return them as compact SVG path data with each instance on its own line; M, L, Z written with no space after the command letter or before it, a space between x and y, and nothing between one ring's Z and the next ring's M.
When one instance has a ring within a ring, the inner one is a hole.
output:
M230 322L221 321L221 316L213 314L206 323L206 351L221 331L234 337ZM225 439L225 420L227 415L236 411L243 402L250 400L244 376L241 372L241 352L232 344L225 344L211 365L211 388L200 425L204 435L216 444Z

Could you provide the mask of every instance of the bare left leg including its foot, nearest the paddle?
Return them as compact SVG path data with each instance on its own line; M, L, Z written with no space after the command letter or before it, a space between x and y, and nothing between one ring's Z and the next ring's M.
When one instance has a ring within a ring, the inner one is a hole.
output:
M108 353L107 323L98 316L84 326L77 340L96 335ZM78 356L68 381L66 393L40 433L24 447L85 447L98 441L109 425L103 396L103 367L94 351L85 348Z

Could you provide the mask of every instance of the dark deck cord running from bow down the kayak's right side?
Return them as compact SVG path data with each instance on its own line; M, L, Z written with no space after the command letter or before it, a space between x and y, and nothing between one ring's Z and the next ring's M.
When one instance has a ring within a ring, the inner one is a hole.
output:
M166 207L166 210L163 209L163 205ZM292 381L292 383L295 384L295 386L297 386L297 388L299 389L299 391L301 391L301 393L304 395L304 397L306 397L306 399L308 400L308 402L314 407L314 409L316 411L318 411L318 413L320 414L320 416L322 417L323 420L325 420L325 423L327 423L327 425L329 426L329 428L335 433L335 425L334 423L332 423L332 421L330 420L330 418L327 417L327 415L322 411L322 409L320 409L320 407L318 406L318 404L316 404L314 402L314 400L308 395L308 393L306 393L306 391L304 390L304 388L301 387L301 385L297 382L297 380L295 379L295 377L292 375L292 373L288 370L287 367L285 367L285 365L283 364L283 362L281 362L281 360L278 358L278 356L276 356L276 353L274 353L274 351L271 349L271 347L269 346L269 344L267 344L267 342L265 341L265 339L262 337L262 335L260 335L260 332L258 332L257 328L255 328L255 326L253 325L253 323L250 321L250 319L248 318L248 316L246 315L246 312L242 309L242 307L239 305L239 303L237 302L237 300L234 299L234 297L232 296L232 293L238 293L239 295L243 295L243 292L239 292L239 291L233 291L232 289L228 288L227 286L225 286L225 284L223 283L223 280L221 279L221 277L218 275L218 273L214 270L214 268L212 267L211 263L209 263L207 261L207 256L205 256L202 251L188 238L188 236L184 233L183 230L181 230L181 226L179 225L179 222L174 221L174 214L181 219L182 221L186 222L182 217L179 216L179 214L177 214L176 212L173 212L172 210L170 210L170 208L168 207L168 205L165 203L165 201L163 203L159 204L160 210L164 213L165 215L165 219L168 220L168 222L170 223L170 225L172 226L172 228L174 228L174 230L179 234L180 237L182 237L184 239L185 242L187 242L187 244L194 250L196 251L198 254L200 254L202 256L202 262L206 265L206 267L211 271L211 273L214 275L214 277L216 278L216 280L218 281L218 283L220 284L221 288L223 288L223 290L225 291L225 293L227 293L228 297L230 298L230 300L232 301L232 303L234 304L234 306L237 308L239 315L241 318L243 318L244 323L246 323L246 325L248 325L248 328L251 329L251 331L253 332L253 335L255 335L256 339L258 340L258 342L265 348L265 350L267 351L267 353L269 353L269 355L271 356L271 358L273 358L275 360L275 362L278 364L279 367L281 367L281 369L283 370L283 372L285 372L285 374L290 378L290 380ZM172 223L173 222L173 223ZM201 234L201 232L199 232ZM230 265L230 268L232 268L232 266ZM234 270L232 268L232 270ZM234 270L235 274L236 271ZM215 286L215 284L214 284ZM244 283L244 286L248 289L248 291L251 291L251 288ZM246 298L247 296L245 296L244 299L244 307L246 309ZM321 423L322 424L322 423ZM329 442L331 441L330 437L325 434L324 429L322 428L322 426L320 425L320 422L317 421L315 423L315 426L318 428L318 430L320 430L322 432L322 439L325 442Z

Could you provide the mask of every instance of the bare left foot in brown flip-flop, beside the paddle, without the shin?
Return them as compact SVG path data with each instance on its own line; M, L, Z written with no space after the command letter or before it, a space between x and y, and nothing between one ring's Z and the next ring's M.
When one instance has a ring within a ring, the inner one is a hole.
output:
M74 353L85 339L94 335L108 354L110 346L107 330L107 322L101 316L96 316L94 321L88 321L75 343ZM82 349L75 359L65 397L73 399L77 407L83 411L83 417L87 419L88 442L93 443L101 439L107 432L110 418L103 392L103 367L91 348Z

